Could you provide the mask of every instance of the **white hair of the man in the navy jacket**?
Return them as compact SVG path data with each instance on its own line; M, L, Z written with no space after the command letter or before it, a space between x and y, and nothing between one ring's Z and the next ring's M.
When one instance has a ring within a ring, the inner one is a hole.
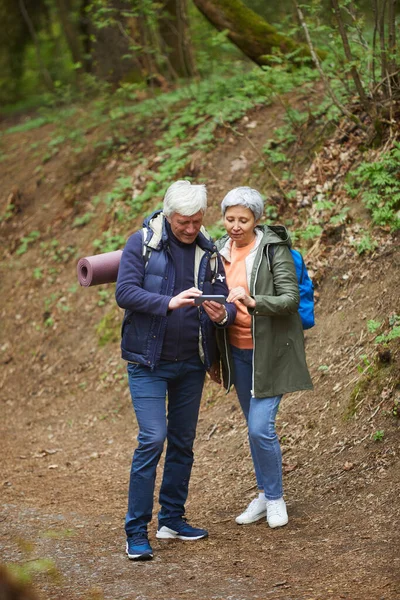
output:
M175 181L167 189L164 196L163 212L166 217L179 213L191 217L201 210L206 212L207 190L205 185L192 185L190 181Z

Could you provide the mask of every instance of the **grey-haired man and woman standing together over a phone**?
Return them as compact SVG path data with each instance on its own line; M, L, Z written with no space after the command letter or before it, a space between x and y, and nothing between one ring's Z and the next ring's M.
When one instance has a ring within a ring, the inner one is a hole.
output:
M184 515L205 374L221 383L220 365L246 418L259 492L236 522L288 522L275 418L283 394L312 388L290 238L284 227L259 224L263 199L249 187L223 199L227 234L216 243L202 226L206 207L204 185L173 183L163 209L128 239L118 272L122 358L139 427L125 519L131 560L153 558L147 526L165 440L156 537L208 535ZM203 294L226 303L199 303Z

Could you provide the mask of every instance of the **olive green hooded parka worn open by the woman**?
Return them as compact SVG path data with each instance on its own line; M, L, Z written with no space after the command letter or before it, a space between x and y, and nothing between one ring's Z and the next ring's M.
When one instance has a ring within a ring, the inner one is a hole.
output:
M297 311L299 287L290 237L283 226L258 226L256 250L251 273L248 274L250 295L256 301L248 308L253 337L253 385L255 398L268 398L313 385L306 364L304 334ZM260 234L261 232L261 234ZM273 244L272 265L268 246ZM231 241L228 235L216 243L225 262L230 261ZM222 376L229 391L235 378L226 329L217 331Z

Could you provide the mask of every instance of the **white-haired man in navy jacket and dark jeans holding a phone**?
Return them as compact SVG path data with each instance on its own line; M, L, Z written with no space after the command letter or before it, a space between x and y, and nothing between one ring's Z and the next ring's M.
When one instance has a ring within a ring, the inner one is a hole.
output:
M172 184L163 210L129 238L118 272L116 300L125 309L122 358L128 362L139 426L125 519L132 560L153 557L147 525L165 439L156 537L198 540L208 535L186 521L185 502L204 377L215 359L215 328L233 323L236 307L198 300L229 293L216 247L202 227L206 207L204 185Z

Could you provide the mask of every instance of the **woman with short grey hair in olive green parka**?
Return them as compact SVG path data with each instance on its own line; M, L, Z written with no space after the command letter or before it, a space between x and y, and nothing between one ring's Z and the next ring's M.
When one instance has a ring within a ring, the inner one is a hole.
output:
M217 245L237 307L234 323L218 332L223 380L228 390L234 384L247 421L259 490L236 522L266 516L281 527L288 515L275 419L283 394L312 389L291 243L285 227L259 225L264 203L254 189L231 190L221 209L227 235Z

